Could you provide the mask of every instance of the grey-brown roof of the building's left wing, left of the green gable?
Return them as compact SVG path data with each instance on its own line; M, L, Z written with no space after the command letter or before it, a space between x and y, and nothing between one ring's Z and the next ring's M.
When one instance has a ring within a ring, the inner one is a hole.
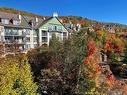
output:
M10 22L10 20L19 20L18 15L19 14L0 12L0 18L1 19L9 19L9 24L2 24L0 22L0 25L5 26L5 27L36 29L44 21L42 18L38 18L38 23L36 23L36 21L35 21L36 17L21 15L21 23L19 25L14 25L13 23ZM29 23L30 21L32 21L34 23L33 27L30 25L30 23Z

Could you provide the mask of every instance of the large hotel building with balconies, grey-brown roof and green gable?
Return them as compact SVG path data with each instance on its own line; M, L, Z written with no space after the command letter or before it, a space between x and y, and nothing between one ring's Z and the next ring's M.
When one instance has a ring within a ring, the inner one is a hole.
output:
M0 12L0 43L4 44L5 53L26 52L49 45L53 34L61 41L68 37L68 30L57 13L40 18Z

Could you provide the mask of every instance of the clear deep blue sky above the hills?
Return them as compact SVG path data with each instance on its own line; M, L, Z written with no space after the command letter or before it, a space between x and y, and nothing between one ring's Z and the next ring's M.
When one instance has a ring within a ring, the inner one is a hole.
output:
M81 16L102 22L127 24L127 0L0 0L0 7L51 16Z

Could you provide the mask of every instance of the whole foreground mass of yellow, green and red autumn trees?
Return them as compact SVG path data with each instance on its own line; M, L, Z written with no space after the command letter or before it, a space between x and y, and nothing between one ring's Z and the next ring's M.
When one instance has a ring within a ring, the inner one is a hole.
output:
M126 45L106 30L53 35L48 47L1 58L0 95L127 95Z

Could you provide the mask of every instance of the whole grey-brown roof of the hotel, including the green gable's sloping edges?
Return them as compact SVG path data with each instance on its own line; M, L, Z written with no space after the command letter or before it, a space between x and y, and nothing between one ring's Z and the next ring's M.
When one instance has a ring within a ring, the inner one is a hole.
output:
M14 13L6 13L6 12L0 12L0 18L9 19L9 24L2 24L0 22L1 26L5 27L14 27L14 28L29 28L29 29L38 29L42 25L46 24L49 20L51 20L54 17L47 17L45 20L43 18L38 18L38 22L35 21L36 17L30 17L30 16L23 16L21 15L21 23L19 25L14 25L10 22L10 20L19 20L18 18L19 14ZM68 31L68 29L64 26L64 24L59 20L58 17L55 17L61 25ZM30 24L30 22L33 22L33 26Z

